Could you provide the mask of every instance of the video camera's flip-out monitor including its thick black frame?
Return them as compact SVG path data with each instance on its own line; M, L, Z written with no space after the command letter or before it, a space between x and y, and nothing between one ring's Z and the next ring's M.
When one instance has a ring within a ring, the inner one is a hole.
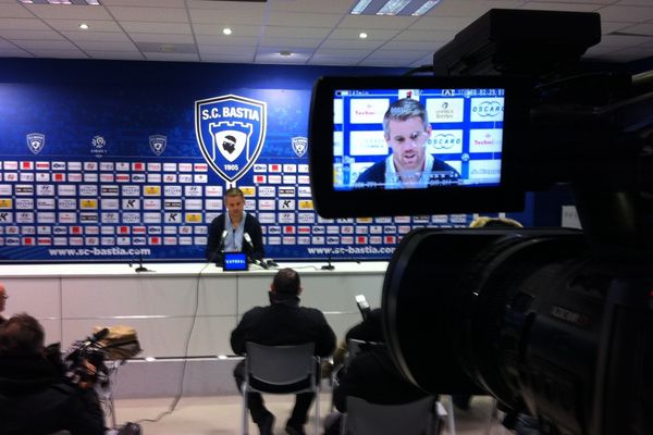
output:
M516 211L525 83L505 77L321 77L309 126L324 217Z

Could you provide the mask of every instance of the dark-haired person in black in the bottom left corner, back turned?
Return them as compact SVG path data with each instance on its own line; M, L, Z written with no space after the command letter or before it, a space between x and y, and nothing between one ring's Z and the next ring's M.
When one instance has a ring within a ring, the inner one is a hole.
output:
M67 382L60 357L48 357L44 340L42 326L26 313L0 325L0 433L103 434L104 419L93 383ZM95 368L87 369L93 375Z

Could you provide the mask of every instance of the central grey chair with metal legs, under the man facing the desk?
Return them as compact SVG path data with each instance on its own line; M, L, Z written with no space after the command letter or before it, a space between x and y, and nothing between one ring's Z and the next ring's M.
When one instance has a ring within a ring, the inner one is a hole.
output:
M320 427L320 358L313 355L315 344L297 346L263 346L245 344L245 382L243 383L243 432L248 434L247 394L298 394L316 395L316 435Z

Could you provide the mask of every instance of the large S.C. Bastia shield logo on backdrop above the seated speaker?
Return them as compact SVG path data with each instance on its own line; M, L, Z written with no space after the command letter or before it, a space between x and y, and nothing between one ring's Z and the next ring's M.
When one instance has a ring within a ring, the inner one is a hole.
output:
M227 183L256 162L266 140L267 103L226 95L195 101L195 135L211 169Z

